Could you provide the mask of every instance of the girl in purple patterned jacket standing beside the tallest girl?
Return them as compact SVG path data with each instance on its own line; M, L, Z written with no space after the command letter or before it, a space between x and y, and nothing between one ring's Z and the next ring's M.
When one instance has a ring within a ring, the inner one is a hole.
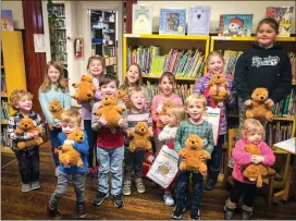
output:
M211 103L212 108L219 107L221 108L221 119L220 119L220 130L217 146L214 146L213 154L211 156L211 160L208 162L209 167L209 176L207 184L205 185L206 191L212 191L217 184L218 175L220 172L220 161L222 156L222 146L224 143L227 122L226 122L226 105L234 106L235 103L235 90L233 87L233 78L231 76L225 75L229 87L225 88L230 91L227 99L224 102L220 102L218 105L209 97L210 87L208 86L209 81L211 79L213 74L223 73L224 60L223 56L220 52L212 51L208 56L208 73L198 78L195 83L194 94L205 95L208 99L208 103ZM224 74L224 73L223 73Z

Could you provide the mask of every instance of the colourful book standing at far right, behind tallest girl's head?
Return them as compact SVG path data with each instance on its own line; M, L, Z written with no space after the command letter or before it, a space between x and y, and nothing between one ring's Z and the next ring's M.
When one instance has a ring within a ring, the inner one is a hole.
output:
M289 37L294 7L268 7L267 17L273 17L280 25L279 36Z

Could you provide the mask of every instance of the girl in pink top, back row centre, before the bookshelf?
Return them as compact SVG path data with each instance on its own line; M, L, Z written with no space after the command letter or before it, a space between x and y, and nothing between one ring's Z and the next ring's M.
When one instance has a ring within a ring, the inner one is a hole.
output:
M157 150L162 147L162 144L158 139L158 135L161 128L157 127L157 122L161 121L164 125L168 124L168 115L157 116L157 113L161 109L163 102L173 101L174 105L183 105L182 99L174 94L175 76L171 72L164 72L159 78L159 95L156 95L152 99L151 114L153 120L155 144Z

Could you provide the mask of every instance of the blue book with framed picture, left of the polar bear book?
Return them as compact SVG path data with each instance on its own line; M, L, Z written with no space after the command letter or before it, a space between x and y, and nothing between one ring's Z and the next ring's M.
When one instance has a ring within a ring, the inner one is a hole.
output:
M186 9L160 9L160 35L185 35L185 28Z

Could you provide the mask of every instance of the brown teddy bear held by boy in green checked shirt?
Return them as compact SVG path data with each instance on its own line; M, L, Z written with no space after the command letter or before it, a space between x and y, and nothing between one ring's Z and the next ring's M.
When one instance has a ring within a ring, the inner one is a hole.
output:
M203 140L196 134L190 134L185 140L185 148L183 148L178 156L185 158L180 163L180 170L187 170L200 172L201 175L207 175L208 167L206 162L200 161L200 157L211 159L211 155L202 149Z

